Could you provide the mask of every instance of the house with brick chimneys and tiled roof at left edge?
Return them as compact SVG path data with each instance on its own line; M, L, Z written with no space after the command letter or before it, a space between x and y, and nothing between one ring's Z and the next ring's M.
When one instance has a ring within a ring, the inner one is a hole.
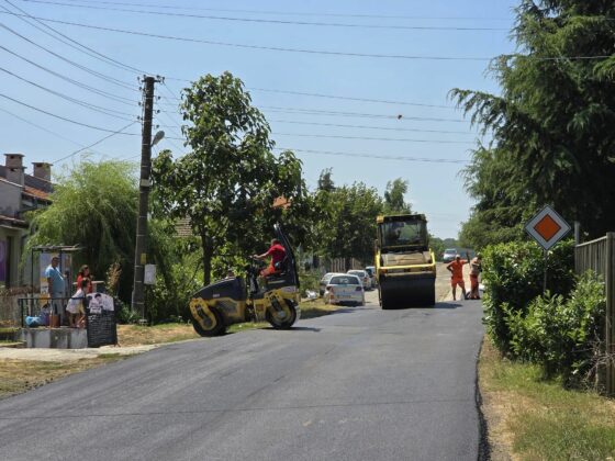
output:
M52 166L35 162L27 175L22 154L4 154L0 165L0 286L20 286L19 263L29 235L25 212L51 203Z

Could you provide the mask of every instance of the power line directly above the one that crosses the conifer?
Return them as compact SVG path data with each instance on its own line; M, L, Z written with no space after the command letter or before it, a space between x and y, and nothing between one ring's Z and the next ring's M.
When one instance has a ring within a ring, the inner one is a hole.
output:
M395 24L358 24L358 23L339 23L339 22L309 22L309 21L290 21L290 20L275 20L275 19L257 19L257 18L233 18L233 16L220 16L211 14L195 14L195 13L177 13L169 11L152 11L152 10L133 10L127 8L116 8L116 7L100 7L96 4L76 4L76 3L64 3L59 1L42 1L42 0L22 0L30 3L43 3L56 7L69 7L69 8L86 8L90 10L103 10L103 11L118 11L124 13L136 13L136 14L153 14L161 16L175 16L175 18L189 18L189 19L204 19L213 21L230 21L230 22L247 22L247 23L265 23L265 24L278 24L278 25L308 25L308 26L324 26L324 27L346 27L346 29L383 29L383 30L411 30L411 31L508 31L506 27L467 27L467 26L434 26L434 25L395 25ZM118 5L126 7L126 3L115 3ZM143 8L143 7L142 7Z

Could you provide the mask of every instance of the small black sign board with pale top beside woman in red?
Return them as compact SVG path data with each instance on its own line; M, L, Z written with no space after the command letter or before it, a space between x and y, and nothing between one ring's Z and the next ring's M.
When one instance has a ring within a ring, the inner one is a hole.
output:
M88 347L116 345L118 324L113 297L101 293L88 294L86 304Z

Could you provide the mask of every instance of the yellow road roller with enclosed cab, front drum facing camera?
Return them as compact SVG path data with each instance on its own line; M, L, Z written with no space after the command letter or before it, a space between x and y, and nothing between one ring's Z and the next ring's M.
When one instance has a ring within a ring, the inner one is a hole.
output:
M376 277L383 310L433 306L436 258L428 246L423 214L378 216Z

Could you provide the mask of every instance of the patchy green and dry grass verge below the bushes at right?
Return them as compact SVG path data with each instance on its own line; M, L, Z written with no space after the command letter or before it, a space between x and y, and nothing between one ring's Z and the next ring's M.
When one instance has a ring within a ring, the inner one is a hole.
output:
M613 460L615 402L569 391L533 364L503 359L489 339L479 385L493 460Z

